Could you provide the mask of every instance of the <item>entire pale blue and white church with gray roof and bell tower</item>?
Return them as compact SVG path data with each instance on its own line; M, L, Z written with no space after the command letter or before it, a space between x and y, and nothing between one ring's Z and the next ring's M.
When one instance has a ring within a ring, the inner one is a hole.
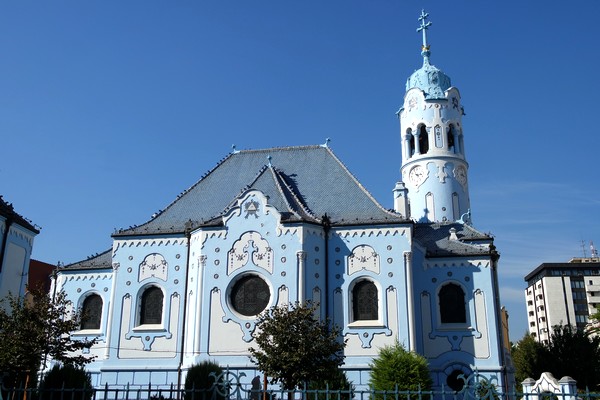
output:
M98 338L94 385L177 384L204 360L250 381L257 315L307 300L342 327L357 388L396 340L427 358L438 389L475 370L506 384L499 254L473 227L461 96L430 63L419 20L394 210L327 144L232 151L111 249L58 272L56 289L88 316L73 338Z

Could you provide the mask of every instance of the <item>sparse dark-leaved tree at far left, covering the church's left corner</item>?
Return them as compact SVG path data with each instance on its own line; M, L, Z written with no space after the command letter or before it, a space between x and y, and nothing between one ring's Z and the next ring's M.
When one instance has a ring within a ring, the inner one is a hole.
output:
M4 385L31 387L43 361L50 358L64 365L81 367L93 358L81 354L93 340L72 340L81 315L71 310L64 292L51 298L42 289L32 289L31 298L9 294L0 301L0 371L8 373Z

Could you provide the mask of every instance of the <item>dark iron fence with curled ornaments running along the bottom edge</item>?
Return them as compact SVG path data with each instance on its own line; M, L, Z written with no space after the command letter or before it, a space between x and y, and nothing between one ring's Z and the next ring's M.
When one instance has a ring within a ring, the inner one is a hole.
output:
M105 384L94 388L58 389L7 388L1 385L0 400L600 400L600 393L590 390L569 392L524 393L513 388L502 390L493 381L478 374L461 376L464 381L460 390L442 387L440 390L377 391L373 389L261 389L256 385L243 384L236 375L224 371L214 376L214 384L208 389L182 388L171 385L116 386Z

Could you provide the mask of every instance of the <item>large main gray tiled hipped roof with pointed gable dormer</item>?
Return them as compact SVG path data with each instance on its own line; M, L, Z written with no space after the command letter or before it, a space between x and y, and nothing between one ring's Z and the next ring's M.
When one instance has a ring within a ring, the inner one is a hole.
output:
M183 232L189 221L193 228L214 224L249 188L263 191L292 221L325 214L332 225L405 220L379 205L328 147L300 146L231 153L159 215L114 236Z

